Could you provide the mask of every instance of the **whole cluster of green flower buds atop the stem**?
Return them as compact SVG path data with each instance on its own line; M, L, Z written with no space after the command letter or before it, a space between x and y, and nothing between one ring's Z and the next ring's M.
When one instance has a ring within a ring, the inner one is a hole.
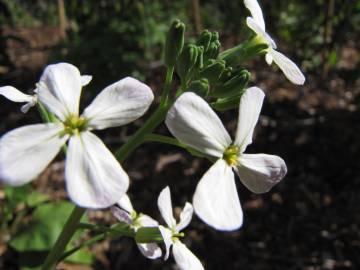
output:
M268 48L255 37L219 54L221 43L217 32L204 30L195 42L184 42L185 25L175 20L165 46L165 63L175 68L181 90L195 92L212 100L217 110L232 109L239 104L251 74L239 68L244 60L263 54Z

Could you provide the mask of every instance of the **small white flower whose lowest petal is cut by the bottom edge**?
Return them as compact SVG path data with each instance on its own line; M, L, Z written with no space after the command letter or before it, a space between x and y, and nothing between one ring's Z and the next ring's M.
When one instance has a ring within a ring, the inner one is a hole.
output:
M179 236L183 236L180 231L187 227L191 221L193 214L192 205L188 202L185 204L184 209L180 213L180 222L176 224L172 211L170 189L166 187L159 195L158 207L161 216L168 226L168 228L161 225L159 226L166 247L165 260L169 258L170 248L172 246L175 262L181 270L204 269L199 259L179 240Z

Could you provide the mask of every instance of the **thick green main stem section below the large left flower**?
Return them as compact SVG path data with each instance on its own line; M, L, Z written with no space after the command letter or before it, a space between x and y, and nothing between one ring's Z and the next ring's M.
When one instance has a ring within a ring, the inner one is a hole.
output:
M45 262L42 266L42 270L51 270L54 269L56 262L59 260L63 250L65 249L66 245L71 240L72 236L74 235L78 225L80 223L80 219L85 213L85 208L80 208L78 206L74 207L70 217L66 221L66 224L56 240L55 245L50 250L50 253L45 259Z

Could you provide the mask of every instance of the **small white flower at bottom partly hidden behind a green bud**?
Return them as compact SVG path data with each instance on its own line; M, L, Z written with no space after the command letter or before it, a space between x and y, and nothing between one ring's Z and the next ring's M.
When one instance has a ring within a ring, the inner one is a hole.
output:
M117 204L122 209L117 206L112 206L111 212L119 221L129 224L135 232L141 227L159 226L159 223L150 216L144 215L142 213L138 214L134 210L129 197L126 194L121 197L120 201L118 201ZM156 243L138 243L137 245L141 253L149 259L157 259L162 255L161 249Z

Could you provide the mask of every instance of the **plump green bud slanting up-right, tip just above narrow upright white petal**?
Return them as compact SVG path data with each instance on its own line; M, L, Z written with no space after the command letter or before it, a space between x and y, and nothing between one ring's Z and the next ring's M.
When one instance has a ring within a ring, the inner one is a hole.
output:
M225 83L217 85L211 93L211 96L225 98L234 96L243 91L250 80L251 74L245 69L239 70L236 73L236 75L232 76Z

